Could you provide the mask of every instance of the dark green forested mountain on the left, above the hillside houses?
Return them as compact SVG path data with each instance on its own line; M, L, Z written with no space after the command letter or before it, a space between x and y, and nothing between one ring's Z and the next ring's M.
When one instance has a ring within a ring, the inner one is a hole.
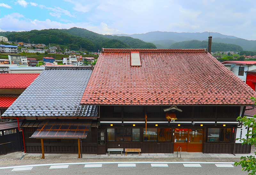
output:
M0 32L0 36L8 37L9 41L42 43L48 45L64 45L72 50L80 46L87 51L98 51L105 48L156 48L131 37L101 35L81 28L31 30L28 32Z

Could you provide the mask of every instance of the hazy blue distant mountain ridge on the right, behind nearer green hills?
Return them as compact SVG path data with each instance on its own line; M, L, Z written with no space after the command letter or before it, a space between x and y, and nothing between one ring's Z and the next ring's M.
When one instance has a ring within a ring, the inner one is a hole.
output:
M170 48L175 42L189 41L189 40L208 40L209 32L189 33L189 32L148 32L141 34L115 34L116 36L130 36L146 42L151 42L157 48ZM256 40L245 40L236 36L223 35L217 32L210 32L213 42L235 44L241 46L244 50L255 51Z

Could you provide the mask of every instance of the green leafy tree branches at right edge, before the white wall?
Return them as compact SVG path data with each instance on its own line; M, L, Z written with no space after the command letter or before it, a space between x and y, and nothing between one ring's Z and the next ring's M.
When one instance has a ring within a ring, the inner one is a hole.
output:
M254 104L256 104L256 98L252 97L251 99ZM248 134L246 134L246 138L237 138L236 140L239 140L242 142L242 144L256 146L256 115L254 115L252 118L248 118L246 116L238 117L237 120L240 121L245 127L253 129L249 130ZM254 154L256 155L256 152ZM242 171L247 171L249 175L255 175L256 173L255 156L242 156L240 162L235 162L235 165L241 165Z

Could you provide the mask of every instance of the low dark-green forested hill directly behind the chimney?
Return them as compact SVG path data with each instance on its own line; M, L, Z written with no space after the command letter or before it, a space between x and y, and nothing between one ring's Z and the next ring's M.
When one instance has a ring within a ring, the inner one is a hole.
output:
M191 49L191 48L207 48L207 47L208 47L207 41L191 40L191 41L176 42L172 44L169 48ZM238 46L235 44L212 42L212 52L215 52L215 51L240 52L242 50L243 48L241 46Z

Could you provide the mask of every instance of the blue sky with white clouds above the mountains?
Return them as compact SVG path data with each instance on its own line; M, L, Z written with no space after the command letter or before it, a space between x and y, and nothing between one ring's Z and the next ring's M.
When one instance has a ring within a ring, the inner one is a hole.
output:
M0 0L0 31L212 31L256 40L255 0Z

